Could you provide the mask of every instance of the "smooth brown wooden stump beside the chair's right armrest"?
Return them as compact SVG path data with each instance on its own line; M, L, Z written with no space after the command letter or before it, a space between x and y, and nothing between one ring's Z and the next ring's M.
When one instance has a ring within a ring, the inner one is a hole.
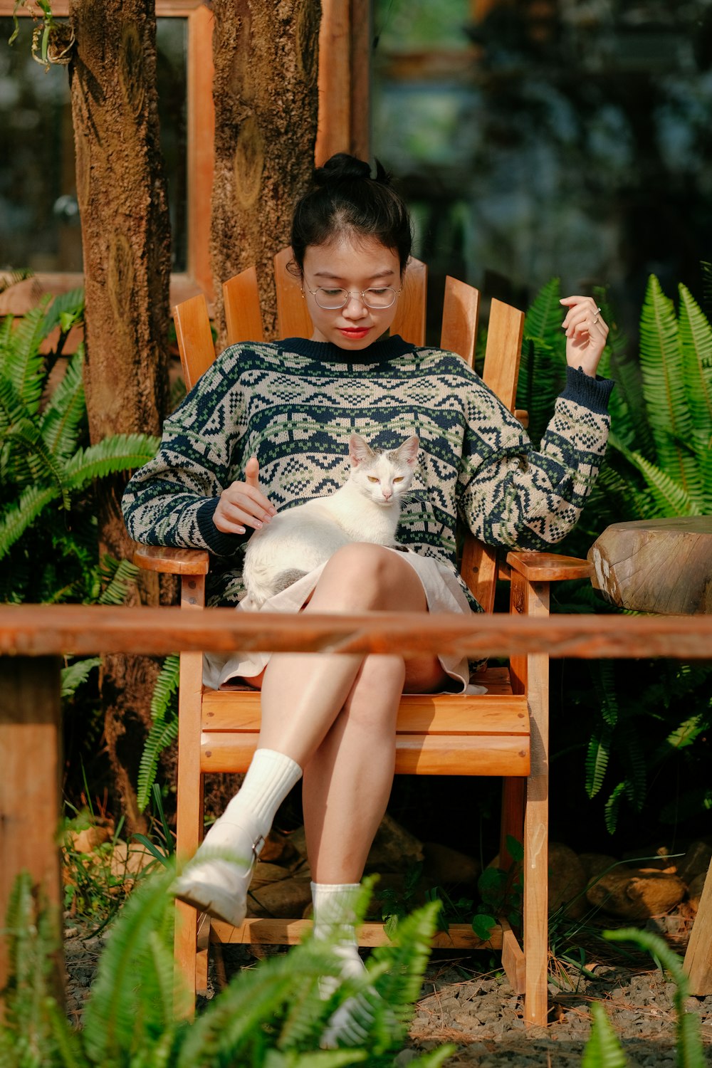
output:
M613 523L588 551L591 582L620 608L712 613L712 516Z

